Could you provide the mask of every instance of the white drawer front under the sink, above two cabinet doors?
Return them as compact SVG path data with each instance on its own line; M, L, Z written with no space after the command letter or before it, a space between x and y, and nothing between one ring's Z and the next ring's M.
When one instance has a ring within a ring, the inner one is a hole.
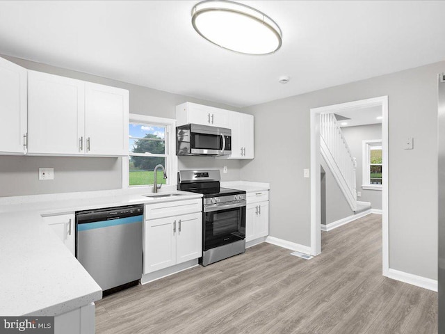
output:
M145 219L156 219L202 211L202 199L176 200L145 205Z

